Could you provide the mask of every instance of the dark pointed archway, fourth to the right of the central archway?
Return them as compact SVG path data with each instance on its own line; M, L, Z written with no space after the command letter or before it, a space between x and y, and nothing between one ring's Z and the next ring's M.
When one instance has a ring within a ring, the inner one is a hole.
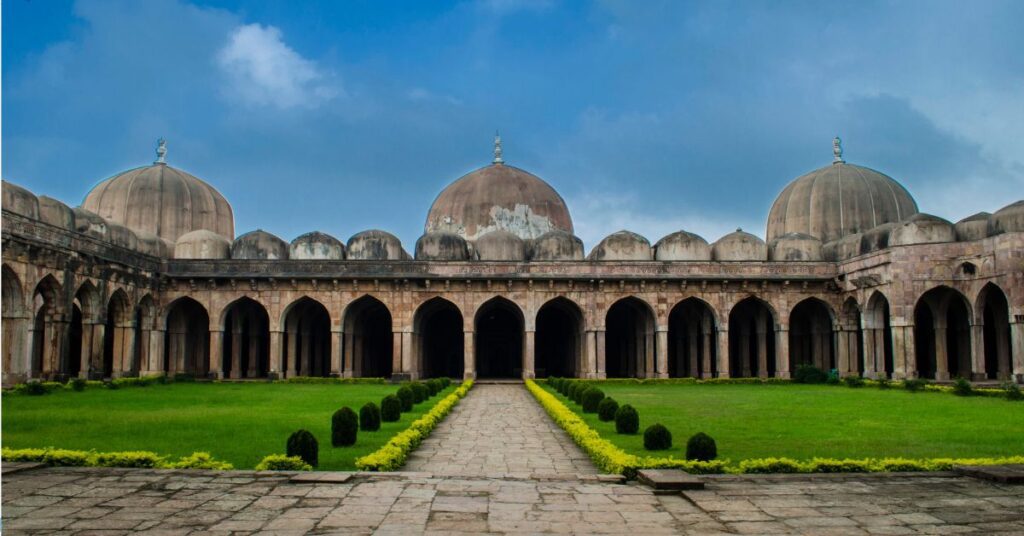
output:
M774 317L764 301L749 297L729 312L729 375L775 375ZM795 367L796 365L791 365Z

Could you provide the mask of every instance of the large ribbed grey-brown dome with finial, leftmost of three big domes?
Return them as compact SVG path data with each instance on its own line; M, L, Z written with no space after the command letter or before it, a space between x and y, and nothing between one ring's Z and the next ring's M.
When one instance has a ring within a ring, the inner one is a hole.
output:
M165 163L131 169L103 180L85 196L82 207L132 231L170 242L201 229L228 240L234 238L234 217L224 196Z

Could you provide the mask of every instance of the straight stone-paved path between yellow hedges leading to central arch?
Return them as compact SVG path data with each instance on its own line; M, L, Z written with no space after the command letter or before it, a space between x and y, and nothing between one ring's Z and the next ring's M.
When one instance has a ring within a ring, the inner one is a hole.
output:
M520 479L597 472L520 383L474 385L403 469Z

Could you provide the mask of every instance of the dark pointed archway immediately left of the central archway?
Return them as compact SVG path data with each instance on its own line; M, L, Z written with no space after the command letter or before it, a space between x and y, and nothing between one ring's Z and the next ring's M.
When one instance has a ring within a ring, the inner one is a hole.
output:
M465 336L462 313L455 303L435 297L420 305L413 318L413 335L422 377L463 377Z

